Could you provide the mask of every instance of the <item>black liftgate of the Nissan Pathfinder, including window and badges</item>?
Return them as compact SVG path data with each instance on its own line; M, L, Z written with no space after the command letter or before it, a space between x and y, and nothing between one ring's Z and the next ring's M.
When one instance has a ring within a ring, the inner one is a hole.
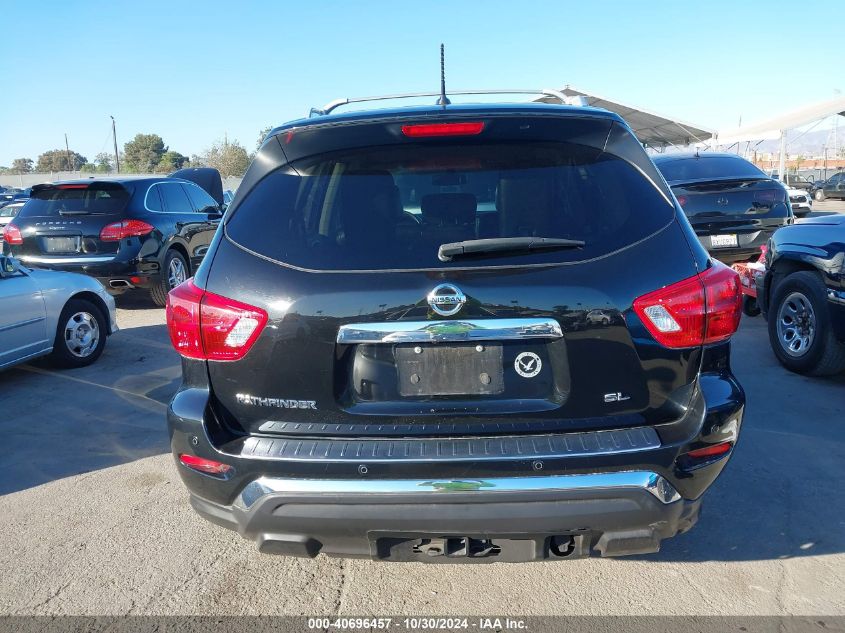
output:
M208 363L232 430L500 435L683 414L701 348L656 345L631 307L698 270L636 139L605 116L458 123L265 143L197 281L268 315L244 358Z

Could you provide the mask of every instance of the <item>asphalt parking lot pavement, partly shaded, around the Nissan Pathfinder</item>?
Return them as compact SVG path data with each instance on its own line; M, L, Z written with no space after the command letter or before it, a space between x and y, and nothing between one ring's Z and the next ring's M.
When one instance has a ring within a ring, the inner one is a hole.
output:
M699 525L659 554L519 565L259 555L189 508L167 454L163 311L120 302L102 359L0 373L3 614L845 614L845 376L744 317L748 411Z

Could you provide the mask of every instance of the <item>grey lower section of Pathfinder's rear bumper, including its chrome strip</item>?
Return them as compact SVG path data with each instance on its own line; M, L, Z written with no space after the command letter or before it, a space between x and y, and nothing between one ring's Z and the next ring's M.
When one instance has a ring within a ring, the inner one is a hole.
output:
M448 482L263 477L231 506L197 496L191 504L264 553L449 563L656 552L694 525L700 507L644 471Z

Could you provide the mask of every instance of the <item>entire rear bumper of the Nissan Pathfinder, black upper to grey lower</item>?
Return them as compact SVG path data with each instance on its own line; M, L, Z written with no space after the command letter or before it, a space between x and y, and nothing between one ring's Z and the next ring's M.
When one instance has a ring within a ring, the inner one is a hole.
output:
M205 372L201 363L183 362L188 380ZM645 438L636 450L542 457L527 457L518 448L496 460L479 459L477 452L427 461L373 459L380 455L376 447L368 448L367 458L343 459L330 450L320 457L307 450L314 456L286 458L282 451L263 458L253 447L235 454L226 450L231 443L221 437L209 392L199 388L176 394L168 425L174 455L234 468L217 479L177 459L193 507L263 552L492 562L556 558L560 548L554 544L561 539L569 540L567 557L657 551L662 539L692 527L701 495L732 453L694 468L681 467L678 458L703 444L736 444L744 406L745 395L729 371L702 373L686 415L648 429L656 445ZM587 434L566 437L576 435ZM574 439L565 443L585 445L583 437ZM436 539L451 543L441 548L446 550L460 550L466 539L476 545L489 540L499 553L480 558L413 550L422 540Z

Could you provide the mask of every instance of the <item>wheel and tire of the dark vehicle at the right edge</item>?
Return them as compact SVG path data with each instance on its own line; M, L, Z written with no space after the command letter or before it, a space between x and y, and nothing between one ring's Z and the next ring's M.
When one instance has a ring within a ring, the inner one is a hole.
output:
M833 335L819 275L793 273L775 286L771 296L769 342L780 363L790 371L811 376L845 370L845 344Z

